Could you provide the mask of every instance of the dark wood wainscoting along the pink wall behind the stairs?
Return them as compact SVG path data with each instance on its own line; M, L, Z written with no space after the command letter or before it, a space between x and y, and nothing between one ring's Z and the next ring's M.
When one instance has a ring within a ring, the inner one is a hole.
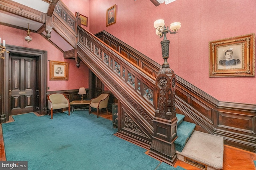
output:
M96 36L122 56L156 77L162 66L136 49L102 31ZM174 70L175 72L175 70ZM175 107L196 130L224 138L224 144L256 152L256 106L220 102L176 74Z

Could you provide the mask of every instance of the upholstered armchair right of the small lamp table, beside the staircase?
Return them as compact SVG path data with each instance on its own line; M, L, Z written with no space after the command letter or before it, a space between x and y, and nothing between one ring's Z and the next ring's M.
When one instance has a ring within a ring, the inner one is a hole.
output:
M108 112L108 99L109 99L109 94L106 94L106 93L102 93L97 98L93 98L90 101L89 114L91 114L91 107L97 109L97 117L99 117L99 109L106 108L106 110Z

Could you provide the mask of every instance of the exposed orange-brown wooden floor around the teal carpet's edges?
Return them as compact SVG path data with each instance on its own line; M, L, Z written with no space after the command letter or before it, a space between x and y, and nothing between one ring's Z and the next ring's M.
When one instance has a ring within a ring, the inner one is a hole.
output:
M97 113L92 112L92 114L96 115ZM106 111L100 112L99 116L112 120L112 114L109 114ZM10 118L10 121L13 121L12 118ZM5 158L5 152L4 152L2 126L0 126L0 161L5 161L5 160L6 158ZM230 147L228 145L224 145L223 170L256 170L256 167L253 162L254 160L256 160L255 153ZM181 166L186 170L201 170L200 168L197 168L195 166L192 166L180 160L177 160L177 162L174 165L174 167L177 167L177 166Z

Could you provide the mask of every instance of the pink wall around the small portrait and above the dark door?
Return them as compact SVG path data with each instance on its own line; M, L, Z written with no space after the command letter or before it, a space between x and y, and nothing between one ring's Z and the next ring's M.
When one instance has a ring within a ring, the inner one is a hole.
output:
M42 35L31 33L32 41L26 43L24 37L26 31L6 27L0 25L0 37L6 40L6 45L15 45L19 47L27 47L31 49L39 49L47 51L48 60L68 62L69 66L69 79L68 80L49 80L49 62L48 62L48 78L47 86L50 87L49 91L54 90L72 90L79 89L80 87L88 88L88 67L84 63L80 63L80 67L76 67L76 61L72 59L64 59L64 54L48 42ZM8 49L7 49L8 50Z

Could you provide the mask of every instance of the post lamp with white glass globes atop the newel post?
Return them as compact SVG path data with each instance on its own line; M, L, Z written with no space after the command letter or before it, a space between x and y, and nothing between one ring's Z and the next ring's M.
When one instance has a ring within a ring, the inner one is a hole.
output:
M164 64L163 64L163 68L170 68L169 67L169 63L167 62L167 59L169 58L169 44L170 41L166 38L166 34L170 33L170 34L176 34L178 31L178 29L180 29L181 24L180 22L174 22L170 24L170 29L172 31L169 30L169 26L164 25L164 20L160 19L160 20L156 20L154 21L154 27L156 28L156 35L160 36L160 38L162 38L164 36L164 40L161 41L161 45L162 45L162 55L163 55L163 59L164 59Z

